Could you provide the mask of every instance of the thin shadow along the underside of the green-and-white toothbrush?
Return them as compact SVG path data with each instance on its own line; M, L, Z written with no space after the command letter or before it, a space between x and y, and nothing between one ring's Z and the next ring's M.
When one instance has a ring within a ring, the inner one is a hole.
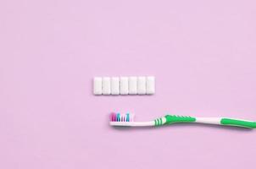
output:
M214 124L205 124L205 123L172 123L159 127L148 126L148 127L128 127L128 126L110 126L116 130L148 130L148 129L160 129L160 128L191 128L191 127L200 127L200 128L217 128L221 130L233 130L241 132L252 132L253 128L241 128L237 126L223 126L223 125L214 125Z

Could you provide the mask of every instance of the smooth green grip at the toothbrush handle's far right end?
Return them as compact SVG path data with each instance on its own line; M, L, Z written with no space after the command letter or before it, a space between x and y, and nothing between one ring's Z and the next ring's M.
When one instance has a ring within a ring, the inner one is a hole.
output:
M227 126L237 126L237 127L243 127L243 128L256 128L256 122L249 122L245 120L236 120L231 118L222 118L220 120L220 123L222 125Z

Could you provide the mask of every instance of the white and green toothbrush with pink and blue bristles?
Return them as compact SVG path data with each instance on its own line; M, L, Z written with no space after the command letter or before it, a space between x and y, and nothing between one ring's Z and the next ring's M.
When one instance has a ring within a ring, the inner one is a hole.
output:
M148 122L135 122L134 114L126 113L111 113L110 122L111 126L131 126L131 127L146 127L146 126L163 126L165 124L172 123L207 123L216 124L223 126L235 126L241 128L256 128L256 122L226 118L226 117L190 117L190 116L176 116L176 115L166 115L164 117L159 117L153 121Z

